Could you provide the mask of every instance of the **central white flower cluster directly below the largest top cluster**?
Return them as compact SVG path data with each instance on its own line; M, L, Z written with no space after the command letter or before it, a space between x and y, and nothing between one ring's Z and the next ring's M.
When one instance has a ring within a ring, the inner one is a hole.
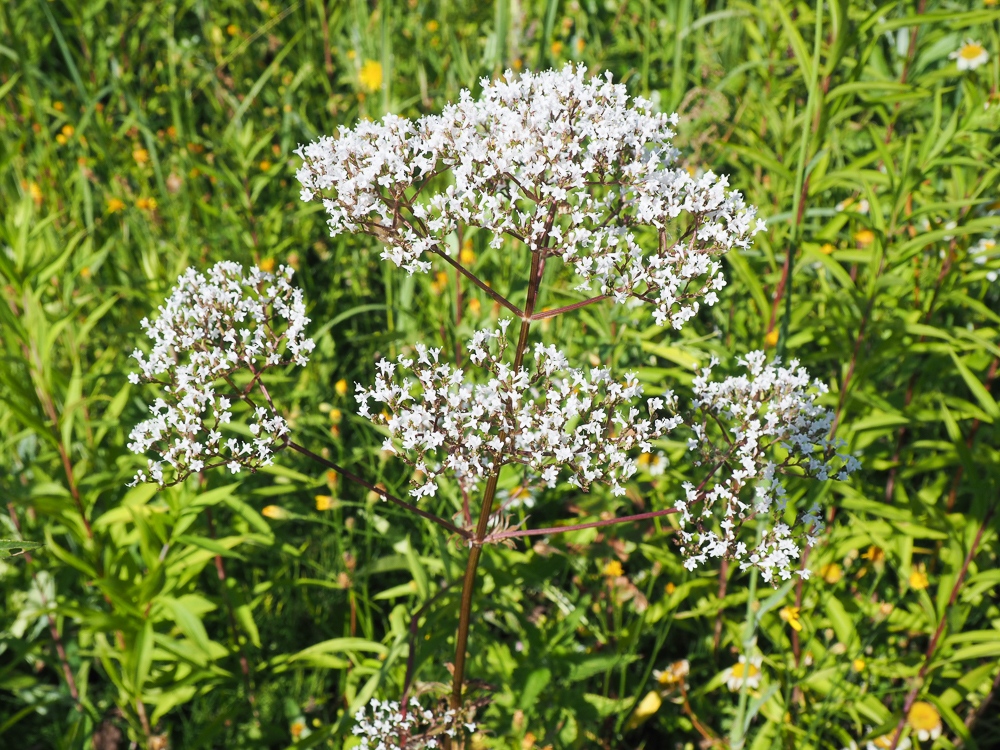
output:
M483 383L439 361L440 349L417 345L417 359L399 357L412 376L396 383L396 365L378 363L375 387L357 386L359 413L389 428L384 449L399 454L424 475L410 494L437 493L437 479L452 474L466 491L505 463L521 464L530 477L555 487L563 468L570 484L587 490L596 480L616 495L636 472L627 451L650 451L651 440L680 424L680 417L656 416L674 405L674 396L647 400L648 417L632 402L642 395L636 376L625 382L607 369L589 373L569 366L554 346L535 344L533 373L504 361L509 320L495 331L478 331L468 344L475 365L488 373ZM496 353L491 342L496 342ZM389 413L372 414L370 401Z

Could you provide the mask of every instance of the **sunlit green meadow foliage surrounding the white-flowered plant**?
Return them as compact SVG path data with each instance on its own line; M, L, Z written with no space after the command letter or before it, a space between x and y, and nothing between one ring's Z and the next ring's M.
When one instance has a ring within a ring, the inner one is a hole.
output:
M0 4L0 537L44 543L0 561L0 744L350 746L350 712L402 690L411 622L418 681L448 681L458 587L441 586L464 551L296 456L127 491L144 408L127 357L183 268L290 263L318 343L274 386L297 439L405 492L335 384L369 383L377 354L460 340L495 311L465 289L456 324L453 278L408 278L366 239L331 241L298 199L292 152L359 117L435 111L506 67L569 60L678 111L684 163L730 175L768 227L680 335L612 308L545 335L683 390L712 353L780 333L779 352L830 382L865 469L795 489L793 506L819 499L832 523L815 575L776 592L738 570L688 573L658 526L491 550L469 666L493 689L477 746L737 737L723 670L752 633L764 664L748 747L864 746L911 691L943 718L934 747L1000 744L1000 282L987 277L1000 254L969 252L1000 225L1000 10L820 7ZM966 38L990 60L963 73L948 56ZM362 77L371 63L381 83ZM495 285L523 284L515 259L474 250ZM531 523L669 507L691 467L683 446L662 448L666 474L627 498L543 496ZM612 561L624 579L606 575ZM796 601L793 640L779 613ZM629 718L652 670L681 658L689 702Z

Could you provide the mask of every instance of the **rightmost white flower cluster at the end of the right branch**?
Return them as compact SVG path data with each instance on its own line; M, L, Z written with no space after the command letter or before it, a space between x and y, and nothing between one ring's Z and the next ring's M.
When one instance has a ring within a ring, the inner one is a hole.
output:
M677 503L685 565L694 569L710 557L728 557L741 569L759 568L765 581L775 575L787 579L800 550L793 529L781 520L786 498L780 474L796 467L793 473L843 480L861 464L836 453L842 443L829 437L833 413L816 403L827 388L811 380L797 360L782 367L777 360L765 363L763 352L751 352L739 359L746 375L711 382L717 363L713 358L694 380L694 406L704 419L692 427L688 448L700 451L697 463L710 464L712 474L701 487L685 484L686 498ZM819 513L815 506L798 522L810 545L823 527ZM748 549L739 541L740 529L747 519L764 514L775 523L756 548ZM708 526L716 516L721 533Z

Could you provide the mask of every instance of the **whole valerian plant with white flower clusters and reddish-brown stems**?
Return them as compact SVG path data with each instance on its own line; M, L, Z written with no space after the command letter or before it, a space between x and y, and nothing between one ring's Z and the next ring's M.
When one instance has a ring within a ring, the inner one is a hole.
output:
M141 379L163 393L133 432L134 450L157 454L137 480L179 482L222 466L256 470L290 448L437 523L468 548L451 713L425 715L418 706L407 713L405 697L403 708L373 702L373 718L359 714L357 732L375 747L432 747L438 740L425 725L447 727L448 744L458 737L484 547L676 514L690 569L724 559L768 581L805 577L797 561L802 546L818 539L820 514L811 508L790 520L782 476L846 479L859 467L838 453L833 415L817 403L823 385L794 360L786 366L753 352L739 361L746 375L721 380L706 368L688 400L672 390L643 394L635 373L575 366L538 340L539 321L601 303L648 305L652 323L680 330L717 301L726 284L721 256L748 248L762 223L725 177L692 177L679 167L676 116L630 98L610 74L588 77L582 66L567 66L508 72L482 85L479 98L465 91L440 115L362 121L298 151L302 197L322 202L332 235L377 238L382 257L409 274L447 264L513 316L475 332L464 356L412 342L415 356L380 360L374 385L356 386L359 414L385 430L385 450L415 470L412 502L299 445L279 415L264 376L305 364L312 348L287 269L244 275L223 263L207 277L188 271L158 320L145 325L151 353L135 354ZM528 261L523 303L456 257L454 238L475 231ZM539 310L547 269L588 296ZM702 470L671 507L524 528L508 503L497 502L504 471L549 493L605 484L624 494L636 454L667 435L686 438ZM448 520L419 507L448 483L460 488L463 513ZM762 531L748 544L741 531L751 519ZM427 739L415 744L420 737Z

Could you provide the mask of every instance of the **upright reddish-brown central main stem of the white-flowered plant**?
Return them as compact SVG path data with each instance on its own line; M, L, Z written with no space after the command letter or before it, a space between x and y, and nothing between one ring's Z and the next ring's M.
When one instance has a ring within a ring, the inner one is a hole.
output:
M551 224L551 219L550 219ZM538 283L542 277L544 259L539 250L531 255L531 275L528 279L528 299L525 302L524 314L521 317L521 330L517 337L517 349L514 352L514 371L520 369L524 362L524 352L528 347L528 331L531 328L531 316L535 311L535 300L538 297ZM506 436L501 435L501 442ZM498 460L498 463L500 461ZM479 558L483 554L483 540L490 525L490 513L493 510L493 498L497 491L497 481L500 479L500 467L497 466L486 482L486 492L483 494L483 507L479 511L479 523L476 533L469 540L472 549L465 563L465 578L462 581L462 603L458 615L458 632L455 635L455 673L452 678L451 707L458 709L462 705L462 688L465 684L465 651L469 644L469 622L472 619L472 594L476 587L476 570Z

